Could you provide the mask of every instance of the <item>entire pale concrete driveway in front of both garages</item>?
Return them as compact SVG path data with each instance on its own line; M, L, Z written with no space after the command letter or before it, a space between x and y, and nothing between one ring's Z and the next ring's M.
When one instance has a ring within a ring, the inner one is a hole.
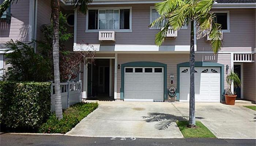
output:
M84 137L182 138L175 120L188 103L99 101L99 108L67 133ZM218 138L256 138L256 112L221 103L196 103L200 120Z

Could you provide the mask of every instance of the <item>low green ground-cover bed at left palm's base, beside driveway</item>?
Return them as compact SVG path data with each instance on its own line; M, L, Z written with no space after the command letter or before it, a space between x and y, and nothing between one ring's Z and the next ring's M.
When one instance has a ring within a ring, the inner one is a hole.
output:
M67 133L76 126L84 117L93 112L98 103L78 103L63 112L63 119L58 120L52 114L46 123L39 128L40 133Z

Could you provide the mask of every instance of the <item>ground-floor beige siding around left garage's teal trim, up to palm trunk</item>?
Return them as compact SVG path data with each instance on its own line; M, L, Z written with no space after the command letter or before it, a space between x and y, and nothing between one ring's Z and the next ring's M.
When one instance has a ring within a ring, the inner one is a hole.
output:
M175 84L177 87L177 64L189 61L189 54L118 54L117 64L124 64L135 61L153 61L167 65L167 88L170 88L170 75L175 76ZM121 69L117 70L117 99L120 99L121 88Z

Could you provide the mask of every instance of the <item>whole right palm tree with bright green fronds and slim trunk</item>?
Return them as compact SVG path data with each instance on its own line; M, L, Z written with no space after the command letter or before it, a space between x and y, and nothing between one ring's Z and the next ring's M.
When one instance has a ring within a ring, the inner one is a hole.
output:
M215 23L215 15L210 13L214 0L165 0L155 4L155 9L159 13L150 27L162 28L155 36L155 44L160 46L165 40L168 27L179 30L182 26L191 24L190 32L190 88L189 88L189 121L188 127L196 127L195 122L195 50L194 50L194 24L196 27L196 39L210 38L210 45L214 53L222 47L221 25ZM195 22L195 23L194 23Z

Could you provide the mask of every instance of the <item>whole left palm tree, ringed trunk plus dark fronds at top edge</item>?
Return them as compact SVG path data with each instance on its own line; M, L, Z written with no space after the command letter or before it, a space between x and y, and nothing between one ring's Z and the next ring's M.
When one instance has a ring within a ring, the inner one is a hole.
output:
M3 15L4 11L18 0L5 0L0 5L0 16ZM92 0L72 0L71 3L74 9L79 9L83 14L86 13L87 4L91 3ZM62 104L61 104L61 92L60 92L60 69L59 69L59 11L60 4L59 0L51 0L52 8L52 22L53 22L53 68L54 68L54 83L55 83L55 113L56 117L60 120L63 118Z

